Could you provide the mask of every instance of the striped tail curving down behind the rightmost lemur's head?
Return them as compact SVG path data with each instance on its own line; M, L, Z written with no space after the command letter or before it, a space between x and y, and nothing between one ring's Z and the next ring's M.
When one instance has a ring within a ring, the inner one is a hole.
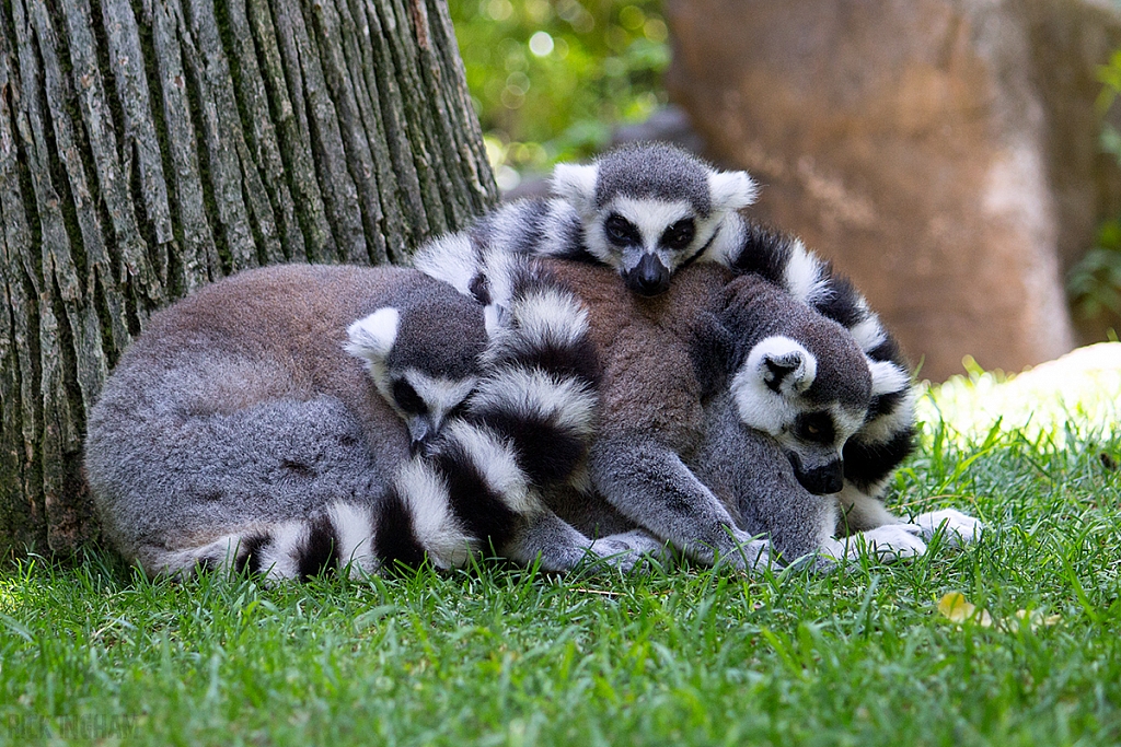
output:
M823 316L852 333L872 372L872 403L863 427L844 448L845 482L879 495L915 440L915 391L899 343L884 329L847 278L834 272L795 236L730 216L722 241L723 261L786 288Z

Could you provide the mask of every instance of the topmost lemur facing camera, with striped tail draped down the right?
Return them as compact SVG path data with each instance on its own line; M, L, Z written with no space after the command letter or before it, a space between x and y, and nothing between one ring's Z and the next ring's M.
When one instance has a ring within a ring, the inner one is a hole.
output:
M745 171L720 171L673 146L636 143L590 165L562 164L554 196L500 206L464 234L437 240L417 267L441 277L485 246L614 268L641 296L665 292L694 261L756 273L849 329L895 384L876 396L846 447L846 516L853 530L891 520L879 496L912 449L915 394L899 345L867 301L802 241L748 220L757 188ZM446 243L447 246L439 244ZM888 370L893 370L889 373Z

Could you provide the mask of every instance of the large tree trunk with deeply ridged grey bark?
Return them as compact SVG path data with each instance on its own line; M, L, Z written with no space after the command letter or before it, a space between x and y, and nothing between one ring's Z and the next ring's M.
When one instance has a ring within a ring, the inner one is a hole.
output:
M0 552L96 539L86 415L152 311L495 196L445 0L0 0Z

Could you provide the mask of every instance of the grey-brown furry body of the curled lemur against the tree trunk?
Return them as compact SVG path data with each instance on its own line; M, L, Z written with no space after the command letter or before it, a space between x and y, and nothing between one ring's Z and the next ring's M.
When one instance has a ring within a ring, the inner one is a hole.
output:
M476 304L391 268L256 270L152 317L90 418L86 475L112 544L147 571L177 572L226 560L188 553L169 567L183 551L332 501L373 510L409 439L343 344L350 323L385 306L402 310L410 366L461 372L485 344Z

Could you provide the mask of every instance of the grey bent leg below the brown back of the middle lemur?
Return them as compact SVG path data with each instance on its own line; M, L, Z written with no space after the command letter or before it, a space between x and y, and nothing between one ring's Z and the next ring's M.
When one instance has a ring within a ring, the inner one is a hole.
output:
M671 449L639 433L599 439L592 482L627 519L689 557L736 568L770 562L769 544L735 526L720 499Z

